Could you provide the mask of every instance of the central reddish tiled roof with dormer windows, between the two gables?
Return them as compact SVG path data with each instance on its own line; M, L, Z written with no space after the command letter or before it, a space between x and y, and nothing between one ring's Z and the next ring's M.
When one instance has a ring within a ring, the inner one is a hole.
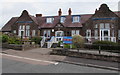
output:
M65 16L65 22L62 23L64 27L82 27L82 23L84 23L86 20L88 20L91 15L81 15L81 19L79 23L73 23L72 22L72 16L73 15L67 15ZM60 23L60 16L52 16L54 17L53 23L46 23L47 17L36 17L38 24L41 28L53 28L57 23Z

